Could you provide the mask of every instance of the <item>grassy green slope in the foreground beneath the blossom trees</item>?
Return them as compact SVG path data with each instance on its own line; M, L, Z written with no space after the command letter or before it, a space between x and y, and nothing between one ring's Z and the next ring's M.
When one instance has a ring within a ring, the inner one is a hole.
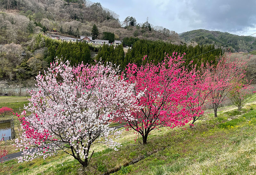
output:
M147 145L134 143L132 132L123 133L119 151L95 145L96 153L87 174L99 174L155 149L159 151L115 174L253 174L256 105L250 104L242 112L222 108L218 118L209 116L209 120L199 122L193 129L153 132ZM60 154L25 163L8 161L0 165L0 173L81 174L82 168L71 156Z

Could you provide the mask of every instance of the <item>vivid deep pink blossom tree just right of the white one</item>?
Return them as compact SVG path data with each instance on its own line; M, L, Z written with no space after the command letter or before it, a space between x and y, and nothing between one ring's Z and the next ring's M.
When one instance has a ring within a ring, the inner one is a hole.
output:
M195 69L188 70L183 66L182 57L173 53L157 65L154 62L141 66L128 64L127 81L135 84L134 95L144 94L136 98L141 109L124 120L127 130L133 129L142 136L143 144L147 143L152 130L184 126L193 117L188 106L197 103L197 98L188 96L188 92L192 91L196 74ZM194 110L200 110L200 107Z

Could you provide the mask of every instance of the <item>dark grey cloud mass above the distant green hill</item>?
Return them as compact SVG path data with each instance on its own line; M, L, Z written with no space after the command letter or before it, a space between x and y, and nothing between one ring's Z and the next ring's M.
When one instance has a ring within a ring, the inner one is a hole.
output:
M206 29L236 32L244 31L256 24L255 0L193 0L186 7L179 16L181 19L187 19L189 26L193 28L200 26ZM194 23L195 21L200 22Z

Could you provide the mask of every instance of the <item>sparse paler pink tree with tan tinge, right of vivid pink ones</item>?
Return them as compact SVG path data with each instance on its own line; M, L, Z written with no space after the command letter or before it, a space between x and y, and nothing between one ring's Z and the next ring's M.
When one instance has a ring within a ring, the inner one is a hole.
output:
M228 96L237 82L245 77L243 69L246 64L245 61L238 61L230 59L230 53L226 53L217 59L217 65L210 65L205 63L203 69L203 80L208 83L208 91L210 92L206 103L214 110L214 116L217 117L217 110L221 103L234 98Z

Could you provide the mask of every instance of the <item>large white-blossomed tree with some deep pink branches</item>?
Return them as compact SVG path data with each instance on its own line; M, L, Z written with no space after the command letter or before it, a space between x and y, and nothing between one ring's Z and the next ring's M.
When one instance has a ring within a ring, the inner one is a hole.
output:
M121 145L114 138L121 131L110 128L109 123L136 108L133 84L118 74L108 63L82 63L72 68L68 62L58 61L44 75L39 74L25 107L31 114L16 114L22 122L22 135L15 142L25 155L19 161L62 150L86 167L93 144L117 150Z

